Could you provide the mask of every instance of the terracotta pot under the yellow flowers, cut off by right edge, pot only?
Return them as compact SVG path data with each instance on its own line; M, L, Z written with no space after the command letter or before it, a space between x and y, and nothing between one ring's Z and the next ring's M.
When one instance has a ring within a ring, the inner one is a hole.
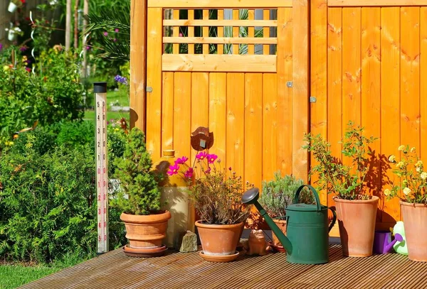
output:
M404 219L408 258L427 262L427 206L400 202Z

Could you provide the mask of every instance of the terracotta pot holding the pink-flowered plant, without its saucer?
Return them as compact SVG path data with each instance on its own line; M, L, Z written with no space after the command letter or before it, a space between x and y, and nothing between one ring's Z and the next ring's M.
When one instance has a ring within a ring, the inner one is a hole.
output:
M243 222L232 225L203 224L196 221L201 247L205 255L221 256L236 253Z

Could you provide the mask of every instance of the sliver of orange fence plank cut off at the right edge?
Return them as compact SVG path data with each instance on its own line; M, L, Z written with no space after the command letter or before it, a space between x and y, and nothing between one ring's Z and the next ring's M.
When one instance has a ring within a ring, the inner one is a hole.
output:
M421 7L420 12L420 154L424 163L427 163L427 7Z

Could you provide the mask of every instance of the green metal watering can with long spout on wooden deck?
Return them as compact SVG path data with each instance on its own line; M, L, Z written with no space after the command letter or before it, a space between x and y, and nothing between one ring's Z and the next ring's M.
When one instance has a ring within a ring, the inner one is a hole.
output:
M308 187L315 195L316 205L298 204L300 192ZM298 264L321 264L329 261L329 231L334 227L337 214L334 214L328 228L327 209L320 205L319 195L311 185L302 185L295 192L292 205L286 207L286 235L268 216L265 209L257 201L259 197L258 188L254 187L246 191L242 196L243 204L253 204L265 219L268 226L278 237L280 243L285 247L289 263Z

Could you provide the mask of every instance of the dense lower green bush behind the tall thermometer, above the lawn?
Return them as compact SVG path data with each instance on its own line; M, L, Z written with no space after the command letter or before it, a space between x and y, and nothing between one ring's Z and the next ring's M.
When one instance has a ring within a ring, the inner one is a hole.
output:
M68 253L93 255L93 148L55 146L40 154L34 143L36 136L29 134L23 153L6 151L0 160L0 256L44 263ZM110 207L112 248L125 241L119 214Z

